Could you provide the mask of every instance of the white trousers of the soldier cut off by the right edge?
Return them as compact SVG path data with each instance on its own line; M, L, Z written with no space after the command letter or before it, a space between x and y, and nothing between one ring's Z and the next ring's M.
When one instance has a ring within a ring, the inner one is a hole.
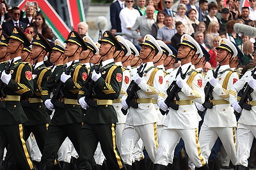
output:
M253 138L256 137L255 125L237 125L237 162L236 165L248 167L248 158L252 148Z

